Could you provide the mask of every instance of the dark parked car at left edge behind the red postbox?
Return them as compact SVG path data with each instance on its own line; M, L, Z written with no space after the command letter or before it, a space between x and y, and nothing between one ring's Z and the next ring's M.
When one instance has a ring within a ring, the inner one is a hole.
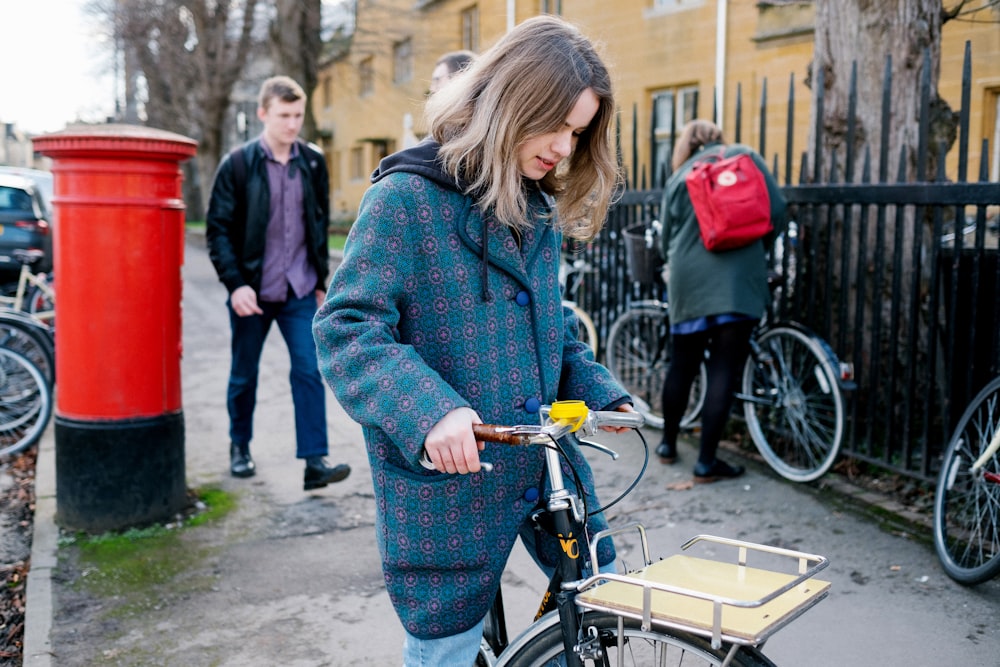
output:
M21 270L15 251L35 257L35 271L52 270L52 227L48 203L32 179L0 172L0 280Z

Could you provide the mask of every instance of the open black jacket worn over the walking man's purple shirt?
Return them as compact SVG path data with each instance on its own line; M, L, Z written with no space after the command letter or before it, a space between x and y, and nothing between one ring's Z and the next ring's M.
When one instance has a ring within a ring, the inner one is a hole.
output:
M316 269L316 289L325 290L330 273L327 240L330 186L326 162L317 148L302 141L298 142L298 147L299 154L292 163L303 174L306 250L309 263ZM246 165L246 185L237 187L232 154L226 154L212 184L205 234L209 257L226 289L232 293L243 285L250 285L260 293L271 194L260 139L246 143L241 150ZM237 201L240 193L246 201Z

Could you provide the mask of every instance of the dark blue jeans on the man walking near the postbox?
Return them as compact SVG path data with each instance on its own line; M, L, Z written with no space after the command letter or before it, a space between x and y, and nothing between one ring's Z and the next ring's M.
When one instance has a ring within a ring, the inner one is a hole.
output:
M237 444L249 444L253 438L253 411L257 405L257 376L264 340L277 321L291 357L289 381L295 405L296 453L300 458L326 456L326 397L323 380L316 365L316 343L312 319L316 314L316 296L290 295L284 303L260 303L263 315L238 317L229 307L232 329L232 366L229 370L229 438Z

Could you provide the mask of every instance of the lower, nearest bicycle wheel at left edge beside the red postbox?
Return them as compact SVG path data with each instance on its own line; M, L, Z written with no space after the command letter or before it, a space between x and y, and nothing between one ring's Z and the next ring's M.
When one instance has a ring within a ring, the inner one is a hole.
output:
M0 348L0 457L35 444L52 418L52 390L23 354Z

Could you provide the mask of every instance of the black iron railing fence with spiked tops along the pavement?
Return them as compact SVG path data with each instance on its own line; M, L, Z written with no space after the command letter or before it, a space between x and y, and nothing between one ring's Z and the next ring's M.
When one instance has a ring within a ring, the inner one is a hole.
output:
M831 165L828 182L811 177L783 188L789 232L771 253L785 276L777 314L811 328L854 365L858 389L850 397L844 455L926 481L936 476L968 401L1000 374L1000 183L988 181L985 160L978 181L965 178L970 62L967 49L957 179L948 181L944 160L920 182L902 182L903 175L872 182L867 155L856 182L837 182ZM887 105L883 118L888 127ZM926 136L922 131L921 152ZM881 164L887 157L880 155ZM600 237L580 249L597 269L586 276L580 299L602 340L631 300L655 289L629 279L622 232L656 218L661 194L633 184Z

